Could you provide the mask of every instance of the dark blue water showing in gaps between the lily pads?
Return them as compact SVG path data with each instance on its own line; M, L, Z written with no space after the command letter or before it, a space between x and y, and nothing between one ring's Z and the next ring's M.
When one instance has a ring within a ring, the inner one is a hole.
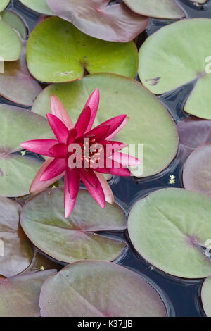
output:
M178 0L177 3L184 8L188 18L211 18L211 0L207 1L207 4L200 6L194 5L188 0ZM15 13L18 13L21 18L23 18L29 33L41 18L41 15L30 11L30 9L27 9L20 4L18 0L11 1L8 8L11 11L15 11ZM160 27L169 23L172 23L172 20L151 19L148 30L139 36L137 46L140 47L148 35L151 35ZM139 79L137 78L137 80ZM183 120L188 116L182 109L193 85L194 82L191 82L184 87L179 87L173 92L159 96L160 101L165 104L176 122ZM43 86L45 87L46 85ZM10 101L6 101L1 97L0 102L12 104ZM181 173L184 161L185 157L181 146L179 146L177 157L167 169L158 175L143 179L115 177L112 180L115 201L120 204L128 216L130 209L137 200L147 196L156 189L161 189L163 187L183 187ZM170 185L169 183L170 175L175 176L176 182L174 185ZM127 248L124 250L122 256L120 256L115 262L122 266L127 266L148 280L148 282L158 290L167 306L169 316L205 316L200 301L200 287L203 280L181 279L179 277L167 275L157 268L154 268L134 250L129 240L127 230L122 234L108 232L106 235L111 237L121 237L127 242ZM127 291L127 289L125 290Z

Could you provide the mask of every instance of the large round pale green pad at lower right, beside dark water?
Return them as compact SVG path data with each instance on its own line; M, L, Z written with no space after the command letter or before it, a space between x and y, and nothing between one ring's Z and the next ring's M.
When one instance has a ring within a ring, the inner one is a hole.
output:
M186 189L160 189L129 213L129 237L136 251L171 275L203 278L211 262L199 245L211 238L211 199Z

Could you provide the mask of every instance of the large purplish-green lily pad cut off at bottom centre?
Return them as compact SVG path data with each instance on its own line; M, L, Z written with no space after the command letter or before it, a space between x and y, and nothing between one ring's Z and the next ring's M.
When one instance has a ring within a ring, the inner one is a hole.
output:
M158 293L140 275L105 261L79 261L44 283L43 317L165 317Z

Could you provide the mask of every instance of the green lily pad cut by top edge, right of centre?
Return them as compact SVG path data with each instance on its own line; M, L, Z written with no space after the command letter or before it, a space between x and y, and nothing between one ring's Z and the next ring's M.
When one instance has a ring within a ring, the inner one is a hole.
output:
M184 12L174 0L123 0L135 13L155 18L183 18Z

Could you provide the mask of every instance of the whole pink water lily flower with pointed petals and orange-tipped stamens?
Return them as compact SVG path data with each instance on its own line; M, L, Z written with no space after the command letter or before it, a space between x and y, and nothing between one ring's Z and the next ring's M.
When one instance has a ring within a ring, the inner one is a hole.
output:
M105 208L106 201L113 203L113 192L103 173L129 176L126 167L141 163L120 152L126 144L111 140L127 124L127 115L111 118L91 130L98 104L99 91L95 89L74 125L61 101L52 95L51 113L46 115L56 139L30 140L21 144L28 151L49 156L34 177L31 193L39 192L65 176L66 218L75 206L81 180L94 200Z

